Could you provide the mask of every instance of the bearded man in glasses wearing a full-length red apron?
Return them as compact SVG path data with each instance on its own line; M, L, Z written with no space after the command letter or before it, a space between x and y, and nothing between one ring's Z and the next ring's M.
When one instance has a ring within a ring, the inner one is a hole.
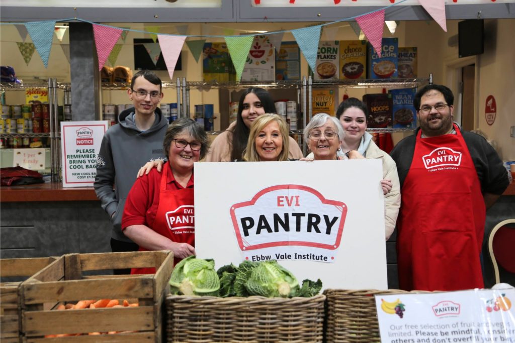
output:
M499 155L453 123L454 96L430 84L414 105L420 128L391 152L401 182L397 256L403 290L483 288L486 208L508 187Z

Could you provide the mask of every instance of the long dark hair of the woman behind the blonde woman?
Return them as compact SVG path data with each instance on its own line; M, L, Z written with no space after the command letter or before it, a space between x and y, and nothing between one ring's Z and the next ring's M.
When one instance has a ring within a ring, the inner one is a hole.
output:
M270 94L263 88L247 88L239 98L238 116L236 118L236 127L232 134L231 147L231 160L242 159L243 151L247 148L247 140L249 139L250 129L243 122L243 101L249 93L254 93L261 101L265 113L276 113L276 105L273 103Z

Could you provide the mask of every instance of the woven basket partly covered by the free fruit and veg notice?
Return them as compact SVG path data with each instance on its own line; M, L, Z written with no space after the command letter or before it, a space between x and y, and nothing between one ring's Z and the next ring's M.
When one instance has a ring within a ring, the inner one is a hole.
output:
M401 290L325 290L325 341L381 342L374 295L408 293Z

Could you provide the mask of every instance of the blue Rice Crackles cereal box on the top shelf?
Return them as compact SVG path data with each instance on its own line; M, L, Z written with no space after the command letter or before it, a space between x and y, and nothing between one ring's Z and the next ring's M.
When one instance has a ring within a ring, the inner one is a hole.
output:
M399 39L383 38L381 58L368 43L368 78L397 79Z

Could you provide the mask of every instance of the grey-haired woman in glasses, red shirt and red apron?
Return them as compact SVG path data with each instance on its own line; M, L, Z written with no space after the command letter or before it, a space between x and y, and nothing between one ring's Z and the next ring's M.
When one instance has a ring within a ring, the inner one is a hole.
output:
M203 158L209 139L191 118L171 123L163 148L168 163L136 179L122 218L125 235L140 251L171 250L175 263L195 255L195 202L193 164ZM152 274L155 268L132 269L131 274Z

